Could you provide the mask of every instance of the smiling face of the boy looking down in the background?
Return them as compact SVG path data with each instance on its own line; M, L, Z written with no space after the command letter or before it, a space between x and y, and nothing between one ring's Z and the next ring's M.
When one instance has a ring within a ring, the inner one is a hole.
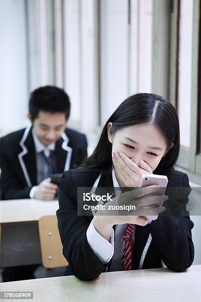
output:
M32 122L37 138L45 146L56 143L66 127L65 113L48 113L40 111L33 121L29 114L29 119Z

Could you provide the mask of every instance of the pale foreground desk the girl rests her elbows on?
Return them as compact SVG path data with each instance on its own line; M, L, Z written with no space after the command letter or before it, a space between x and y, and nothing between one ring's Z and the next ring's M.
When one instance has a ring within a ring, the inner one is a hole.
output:
M33 291L30 301L37 302L200 302L201 265L181 273L168 268L108 272L93 281L66 276L6 282L0 291Z

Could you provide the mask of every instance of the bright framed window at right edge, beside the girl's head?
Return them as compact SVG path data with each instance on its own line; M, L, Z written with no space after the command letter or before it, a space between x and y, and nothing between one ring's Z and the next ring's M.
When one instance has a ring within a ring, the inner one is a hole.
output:
M173 8L171 45L174 45L175 60L170 60L170 78L174 82L169 93L180 122L181 148L177 166L188 173L192 182L201 185L201 1L174 0Z

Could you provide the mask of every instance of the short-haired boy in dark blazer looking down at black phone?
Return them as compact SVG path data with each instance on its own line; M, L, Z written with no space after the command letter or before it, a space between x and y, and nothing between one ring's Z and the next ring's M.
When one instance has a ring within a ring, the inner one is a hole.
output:
M63 89L45 86L31 93L32 126L0 139L2 199L55 198L58 188L50 175L76 168L87 157L86 136L66 128L69 114Z

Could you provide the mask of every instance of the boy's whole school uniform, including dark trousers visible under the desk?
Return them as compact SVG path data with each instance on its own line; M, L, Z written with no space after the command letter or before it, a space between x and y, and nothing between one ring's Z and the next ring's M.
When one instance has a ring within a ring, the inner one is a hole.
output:
M52 173L76 168L87 157L86 136L66 128L61 138L45 147L32 126L0 139L0 186L2 199L33 198L36 186L49 177L46 157L52 152ZM44 154L43 154L44 153ZM33 279L37 265L6 267L4 282Z

